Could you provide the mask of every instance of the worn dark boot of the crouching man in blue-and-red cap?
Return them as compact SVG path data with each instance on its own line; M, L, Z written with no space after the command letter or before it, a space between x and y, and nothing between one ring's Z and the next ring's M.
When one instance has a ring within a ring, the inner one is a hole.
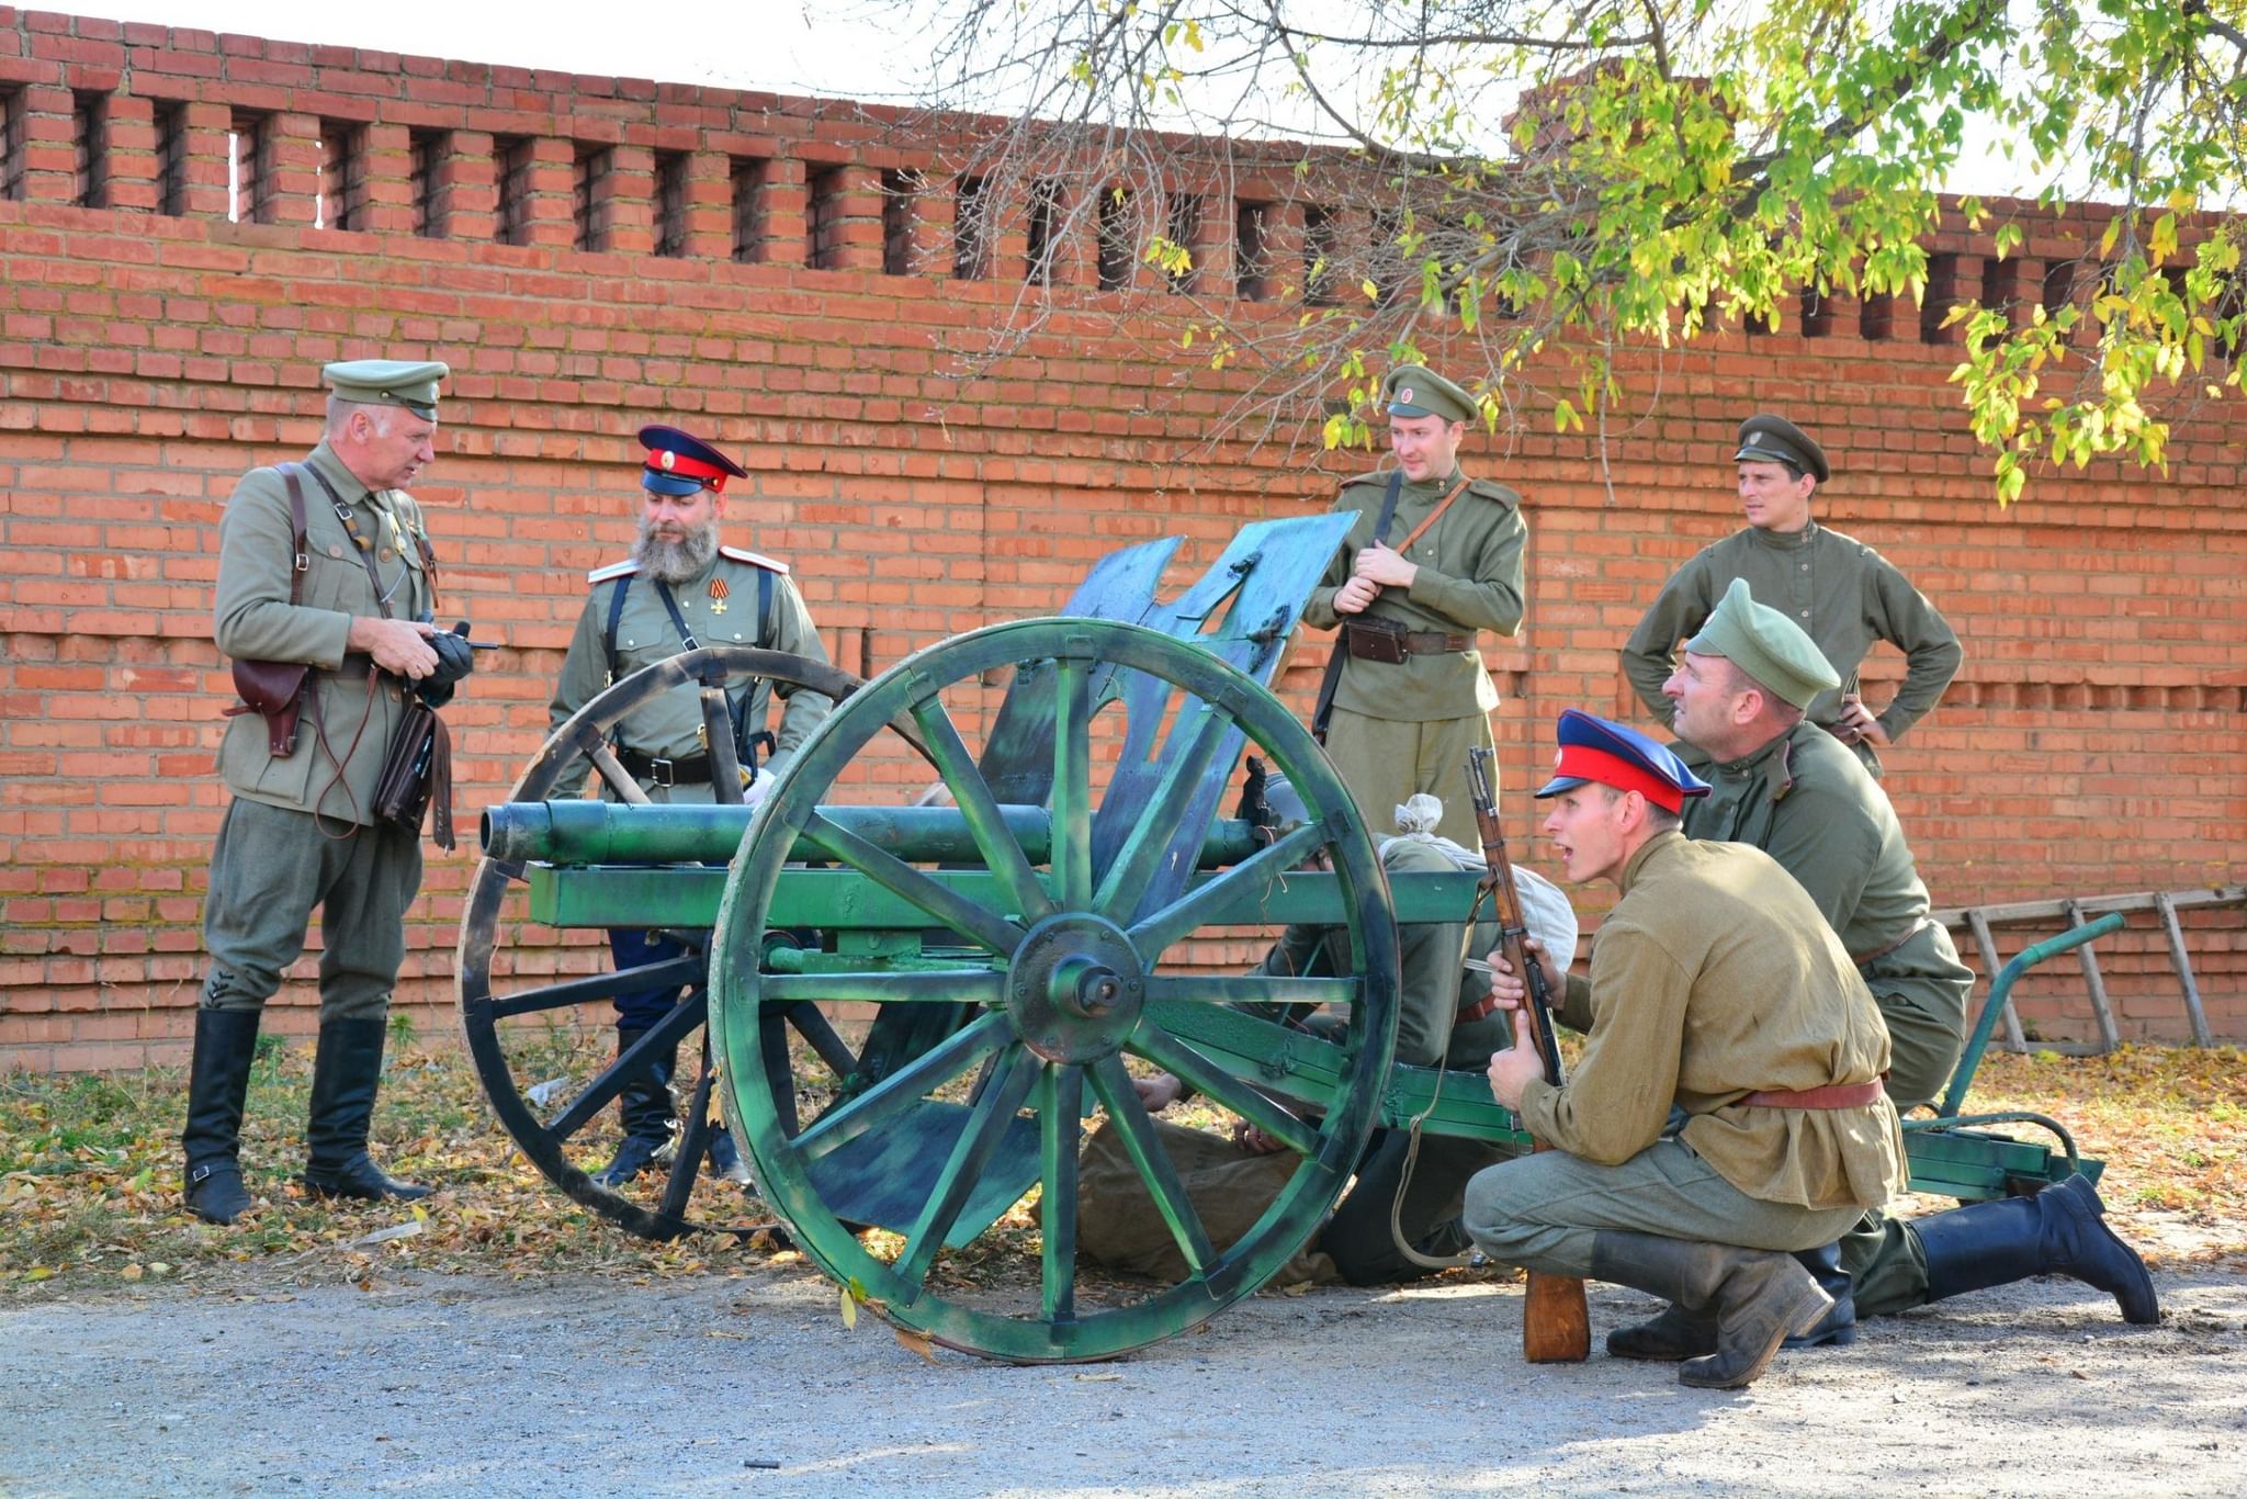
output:
M1811 1330L1834 1306L1789 1254L1658 1234L1593 1234L1591 1274L1714 1317L1717 1351L1679 1366L1679 1384L1696 1389L1753 1382L1789 1333Z

